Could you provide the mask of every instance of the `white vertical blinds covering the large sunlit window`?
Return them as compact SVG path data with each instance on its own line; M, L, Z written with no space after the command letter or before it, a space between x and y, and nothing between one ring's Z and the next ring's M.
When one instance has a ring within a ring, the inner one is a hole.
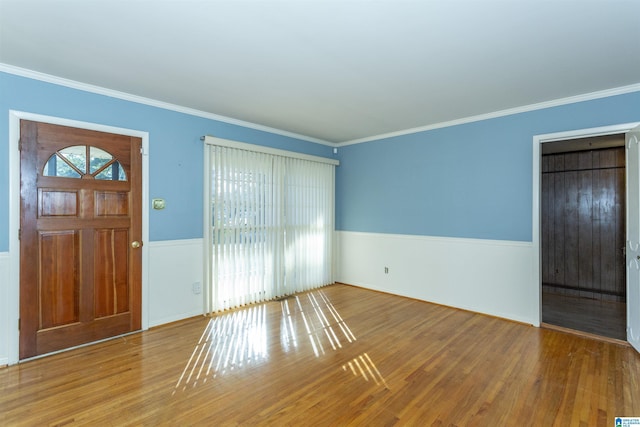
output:
M205 312L332 283L337 162L205 142Z

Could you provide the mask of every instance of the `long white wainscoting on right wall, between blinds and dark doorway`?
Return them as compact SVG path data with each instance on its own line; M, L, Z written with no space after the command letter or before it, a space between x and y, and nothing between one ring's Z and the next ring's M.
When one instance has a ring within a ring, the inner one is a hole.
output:
M532 243L346 231L336 240L337 282L540 325Z

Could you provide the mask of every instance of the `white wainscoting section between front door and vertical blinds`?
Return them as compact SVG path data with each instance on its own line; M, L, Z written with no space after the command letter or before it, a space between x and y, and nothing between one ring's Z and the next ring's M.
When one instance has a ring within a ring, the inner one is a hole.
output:
M202 239L149 243L149 326L202 314Z

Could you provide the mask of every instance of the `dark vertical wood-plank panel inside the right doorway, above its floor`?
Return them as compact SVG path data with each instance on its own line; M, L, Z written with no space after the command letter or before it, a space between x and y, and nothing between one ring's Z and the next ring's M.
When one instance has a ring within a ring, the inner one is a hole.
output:
M625 301L624 147L542 157L542 283Z

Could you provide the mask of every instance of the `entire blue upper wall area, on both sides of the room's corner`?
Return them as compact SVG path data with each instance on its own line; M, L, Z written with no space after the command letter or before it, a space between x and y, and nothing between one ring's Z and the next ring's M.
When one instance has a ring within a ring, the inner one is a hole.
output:
M202 237L205 134L333 157L331 148L0 72L0 252L8 250L9 110L149 132L152 241ZM640 92L341 147L336 228L531 241L534 135L640 122Z

